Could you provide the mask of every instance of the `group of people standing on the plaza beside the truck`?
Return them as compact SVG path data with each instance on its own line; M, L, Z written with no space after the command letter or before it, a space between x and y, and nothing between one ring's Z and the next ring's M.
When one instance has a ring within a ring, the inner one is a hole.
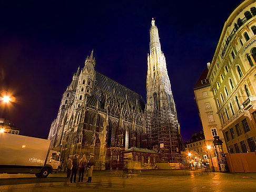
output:
M74 155L73 160L71 158L68 158L67 160L67 178L70 177L70 183L72 183L73 177L74 177L74 183L76 182L76 173L78 169L79 178L78 182L83 182L84 179L84 171L87 170L87 177L88 180L86 183L92 182L92 171L94 167L94 158L93 154L90 154L89 160L86 159L86 156L83 155L83 157L79 159L79 155Z

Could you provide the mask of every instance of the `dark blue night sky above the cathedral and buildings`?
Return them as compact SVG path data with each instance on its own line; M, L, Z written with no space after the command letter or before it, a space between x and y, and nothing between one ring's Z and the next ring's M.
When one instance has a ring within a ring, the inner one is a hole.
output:
M151 19L159 29L184 141L202 129L193 87L241 0L0 1L0 117L45 138L62 94L94 49L95 69L146 101ZM3 92L2 92L3 93Z

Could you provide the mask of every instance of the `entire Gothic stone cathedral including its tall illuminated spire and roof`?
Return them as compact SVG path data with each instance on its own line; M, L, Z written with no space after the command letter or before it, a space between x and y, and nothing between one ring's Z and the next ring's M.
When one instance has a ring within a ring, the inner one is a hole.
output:
M96 169L122 168L123 151L131 147L179 161L179 124L154 21L150 33L147 105L141 95L96 72L93 52L77 69L48 136L51 147L61 151L62 165L71 155L93 153Z

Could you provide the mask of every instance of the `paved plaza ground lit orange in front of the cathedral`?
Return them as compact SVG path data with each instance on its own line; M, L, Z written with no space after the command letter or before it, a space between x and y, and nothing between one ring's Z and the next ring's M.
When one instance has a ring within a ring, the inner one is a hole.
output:
M1 174L2 191L256 191L256 173L219 173L205 170L94 171L92 183L70 183L66 174L36 178L30 174ZM78 178L78 177L77 177Z

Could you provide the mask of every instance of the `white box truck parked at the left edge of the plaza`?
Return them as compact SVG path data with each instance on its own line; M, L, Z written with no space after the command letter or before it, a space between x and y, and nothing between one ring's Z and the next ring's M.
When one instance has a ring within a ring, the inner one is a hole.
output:
M0 173L29 173L47 177L60 165L60 152L49 150L51 141L0 133Z

